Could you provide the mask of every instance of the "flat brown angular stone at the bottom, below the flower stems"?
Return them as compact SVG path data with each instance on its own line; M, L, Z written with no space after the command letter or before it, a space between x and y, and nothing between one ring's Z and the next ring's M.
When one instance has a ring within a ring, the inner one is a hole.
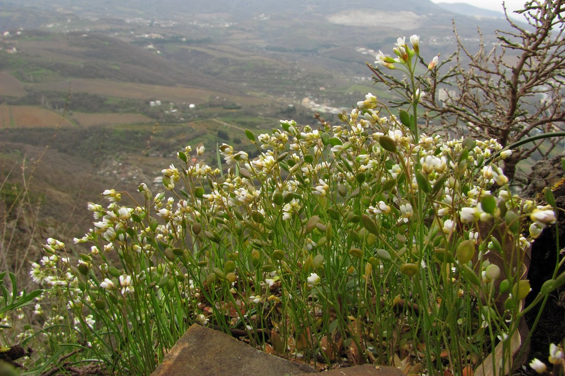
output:
M151 376L286 376L314 371L306 364L264 353L218 330L194 324Z

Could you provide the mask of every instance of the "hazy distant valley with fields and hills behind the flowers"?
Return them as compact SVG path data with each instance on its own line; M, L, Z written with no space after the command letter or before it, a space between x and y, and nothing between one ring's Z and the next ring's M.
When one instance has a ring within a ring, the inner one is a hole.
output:
M47 160L64 160L66 178L34 181L53 217L56 208L82 212L101 186L153 181L186 144L206 145L212 164L218 143L255 152L241 129L260 133L289 118L312 124L316 112L334 121L368 91L392 98L373 86L365 63L379 49L391 53L397 37L419 34L429 60L455 49L452 19L471 47L477 25L486 43L507 28L428 0L386 9L340 0L0 6L0 162L43 158L43 172L55 175L60 165ZM92 184L63 183L87 176Z

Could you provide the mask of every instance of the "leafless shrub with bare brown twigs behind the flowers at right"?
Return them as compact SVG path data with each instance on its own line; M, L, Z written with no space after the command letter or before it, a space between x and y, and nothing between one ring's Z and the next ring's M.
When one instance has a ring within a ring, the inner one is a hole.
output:
M439 120L459 135L496 138L503 147L540 137L514 148L505 160L510 180L520 160L534 153L547 158L559 150L556 147L563 137L542 138L541 134L559 135L555 132L565 130L565 0L530 0L517 12L528 25L523 27L506 14L511 30L497 30L498 43L492 48L485 46L479 30L476 53L463 45L454 27L457 51L420 77L428 93L420 100L428 125ZM386 75L379 67L370 68L377 82L406 90L410 98L410 83Z

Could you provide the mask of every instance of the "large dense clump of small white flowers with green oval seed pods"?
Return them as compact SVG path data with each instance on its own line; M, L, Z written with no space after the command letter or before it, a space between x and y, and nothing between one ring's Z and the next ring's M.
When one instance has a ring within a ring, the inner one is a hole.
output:
M338 125L247 130L257 158L223 144L223 170L186 146L164 192L106 190L75 239L90 251L49 239L33 264L53 301L36 307L45 332L118 374L149 374L194 322L281 356L410 373L460 375L502 344L490 367L507 369L524 312L565 279L523 307L530 244L555 213L509 191L496 140L420 132L410 43L377 58L411 80L398 116L367 94Z

